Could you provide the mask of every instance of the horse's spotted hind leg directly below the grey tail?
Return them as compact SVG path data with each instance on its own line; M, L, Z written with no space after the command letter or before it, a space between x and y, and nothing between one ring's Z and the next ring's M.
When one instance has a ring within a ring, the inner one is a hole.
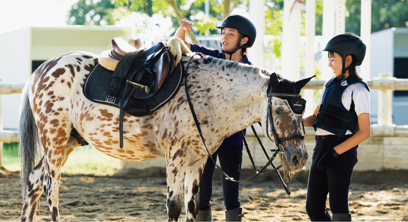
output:
M34 221L34 215L40 205L39 199L43 194L43 179L45 174L44 156L28 176L28 190L23 198L23 210L20 221Z

